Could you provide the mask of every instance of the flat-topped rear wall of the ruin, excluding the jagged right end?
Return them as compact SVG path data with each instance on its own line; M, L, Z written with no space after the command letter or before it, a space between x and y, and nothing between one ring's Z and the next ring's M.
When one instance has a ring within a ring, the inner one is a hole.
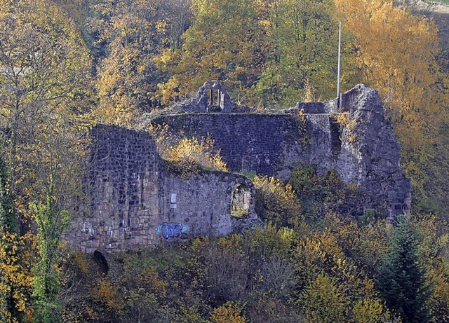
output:
M330 114L178 114L152 122L189 137L210 137L232 172L256 172L288 179L302 163L321 172L337 167L342 130ZM356 162L344 156L347 181L356 182Z

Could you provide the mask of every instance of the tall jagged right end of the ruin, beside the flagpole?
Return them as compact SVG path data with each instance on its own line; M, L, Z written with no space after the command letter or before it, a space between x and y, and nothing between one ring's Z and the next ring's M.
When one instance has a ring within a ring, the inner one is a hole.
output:
M377 91L357 85L342 97L342 111L349 112L355 125L353 130L342 132L336 170L346 179L353 174L352 181L371 197L387 200L388 217L410 211L410 179L400 166L401 147L393 128L384 120Z

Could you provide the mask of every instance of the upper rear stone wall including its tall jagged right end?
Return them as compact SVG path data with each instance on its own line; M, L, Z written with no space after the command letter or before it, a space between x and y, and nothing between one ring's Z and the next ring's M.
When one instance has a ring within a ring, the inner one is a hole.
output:
M210 135L232 172L287 179L301 163L317 165L321 173L333 168L366 191L367 207L384 200L389 217L410 209L400 146L384 120L380 97L365 85L343 93L340 106L335 99L298 103L279 114L172 114L151 122L187 136Z

